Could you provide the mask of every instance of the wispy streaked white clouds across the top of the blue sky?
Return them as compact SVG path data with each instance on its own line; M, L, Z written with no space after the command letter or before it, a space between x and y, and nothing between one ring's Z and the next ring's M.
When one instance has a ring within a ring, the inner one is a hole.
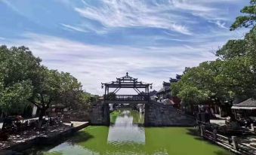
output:
M239 0L102 0L97 6L82 1L84 6L73 7L82 17L101 23L106 29L151 27L168 29L184 35L193 35L194 17L212 20L226 29L224 21L230 20L227 8L223 4L235 4ZM190 14L190 16L187 16ZM87 26L79 26L86 28ZM104 32L106 32L104 30Z

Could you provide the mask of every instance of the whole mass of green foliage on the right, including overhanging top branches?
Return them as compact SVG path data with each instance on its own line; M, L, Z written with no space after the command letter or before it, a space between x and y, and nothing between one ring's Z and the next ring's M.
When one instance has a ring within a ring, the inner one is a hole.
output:
M172 95L190 104L227 104L234 99L256 97L255 4L251 1L251 6L243 8L242 12L249 16L236 18L231 26L253 26L245 38L227 41L217 50L217 60L185 68L181 80L171 86Z

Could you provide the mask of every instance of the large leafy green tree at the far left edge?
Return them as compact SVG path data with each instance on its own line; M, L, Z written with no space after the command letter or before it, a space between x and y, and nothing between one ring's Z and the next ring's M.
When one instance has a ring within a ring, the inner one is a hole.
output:
M26 47L0 47L0 105L7 114L20 113L28 105L34 76L41 59Z

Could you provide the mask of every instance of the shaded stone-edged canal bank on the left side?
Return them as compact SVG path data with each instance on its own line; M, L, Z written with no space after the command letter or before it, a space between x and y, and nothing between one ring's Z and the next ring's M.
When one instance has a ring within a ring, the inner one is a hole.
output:
M8 154L6 150L20 152L35 145L54 144L88 125L88 122L60 123L40 132L30 130L19 135L10 135L8 141L0 141L0 154Z

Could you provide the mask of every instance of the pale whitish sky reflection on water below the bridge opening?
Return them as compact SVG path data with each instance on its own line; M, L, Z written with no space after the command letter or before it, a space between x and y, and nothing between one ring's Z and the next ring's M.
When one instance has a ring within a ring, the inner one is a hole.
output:
M141 114L138 116L141 119ZM137 120L138 121L138 120ZM117 143L138 143L145 144L145 130L134 124L134 117L131 111L125 110L116 117L113 126L109 126L109 134L107 141L110 144Z

